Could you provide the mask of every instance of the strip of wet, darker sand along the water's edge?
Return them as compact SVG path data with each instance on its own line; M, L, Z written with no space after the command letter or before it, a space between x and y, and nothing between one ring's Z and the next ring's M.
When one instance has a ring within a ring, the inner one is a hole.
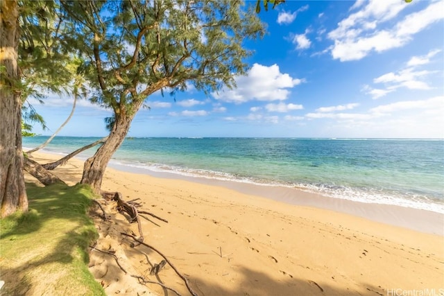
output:
M221 186L226 189L235 190L239 193L256 195L276 202L336 211L343 214L366 218L379 223L404 227L427 234L444 236L444 214L435 211L402 207L395 204L377 204L345 200L343 198L332 198L321 195L320 193L303 191L298 188L249 184L232 180L217 180L205 177L178 175L168 172L156 172L151 171L148 168L135 168L133 166L126 166L125 164L116 164L112 161L108 166L117 169L118 171L128 173Z

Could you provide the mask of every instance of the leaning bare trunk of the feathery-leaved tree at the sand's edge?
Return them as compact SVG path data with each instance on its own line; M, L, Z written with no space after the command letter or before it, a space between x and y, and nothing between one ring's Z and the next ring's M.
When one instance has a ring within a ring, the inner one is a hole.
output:
M101 185L105 168L108 165L114 152L120 147L121 143L128 134L133 116L121 116L116 119L108 139L96 151L94 156L89 157L83 166L83 176L81 184L88 184L92 187L94 193L101 193Z

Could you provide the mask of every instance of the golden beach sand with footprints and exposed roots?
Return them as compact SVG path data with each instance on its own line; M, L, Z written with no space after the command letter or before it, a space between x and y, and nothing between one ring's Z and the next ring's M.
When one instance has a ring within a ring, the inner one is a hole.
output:
M33 157L46 163L60 155ZM72 159L53 172L74 185L82 169L83 162ZM296 205L286 193L264 198L261 192L220 185L108 168L102 189L119 191L125 200L139 198L140 209L168 220L142 219L144 242L167 256L198 295L444 295L441 214L359 202L325 209ZM296 199L307 198L313 195L298 191ZM143 277L189 295L169 265L149 275L162 257L142 245L131 247L132 240L120 232L131 229L138 236L137 223L129 224L113 202L104 207L108 221L99 218L100 211L94 215L96 248L114 254L121 267L114 256L97 250L90 253L89 266L106 293L175 295L157 284L140 284ZM405 217L411 214L418 216ZM413 230L415 225L422 231Z

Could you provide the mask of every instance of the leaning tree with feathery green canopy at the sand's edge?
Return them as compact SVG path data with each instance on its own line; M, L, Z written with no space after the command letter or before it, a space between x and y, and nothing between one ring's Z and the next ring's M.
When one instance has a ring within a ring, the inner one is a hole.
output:
M100 192L105 168L148 96L182 91L187 82L207 93L234 86L246 73L244 40L264 34L241 1L61 1L73 21L71 44L87 61L92 103L113 112L108 139L85 162L81 183ZM252 13L253 12L253 13Z

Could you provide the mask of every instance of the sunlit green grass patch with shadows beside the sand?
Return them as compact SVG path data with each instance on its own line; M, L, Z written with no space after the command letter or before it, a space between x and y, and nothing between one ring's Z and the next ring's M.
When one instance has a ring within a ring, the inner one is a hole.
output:
M86 186L26 184L29 211L0 221L2 295L105 295L88 270L98 234Z

